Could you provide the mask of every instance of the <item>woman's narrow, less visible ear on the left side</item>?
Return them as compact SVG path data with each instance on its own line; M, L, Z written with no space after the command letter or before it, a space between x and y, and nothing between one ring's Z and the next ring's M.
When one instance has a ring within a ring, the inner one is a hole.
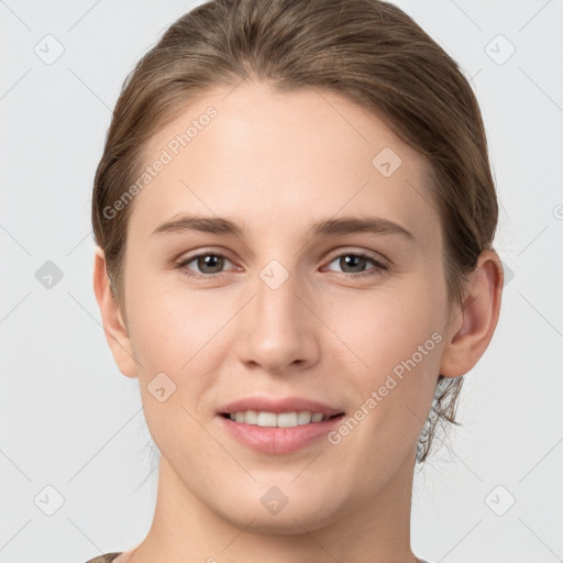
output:
M113 354L113 360L115 360L119 371L123 375L136 377L136 362L133 357L129 331L111 291L106 268L106 254L99 246L96 250L93 263L93 291L100 307L103 330Z

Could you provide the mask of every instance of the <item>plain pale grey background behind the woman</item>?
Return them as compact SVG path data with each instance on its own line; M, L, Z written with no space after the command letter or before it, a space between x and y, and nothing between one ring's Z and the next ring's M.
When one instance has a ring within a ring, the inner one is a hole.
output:
M155 460L137 382L100 323L90 190L123 79L197 3L0 1L0 563L82 562L131 549L151 525ZM416 475L413 550L563 561L563 1L397 3L472 78L500 200L496 249L514 273L466 376L464 426ZM57 43L53 64L34 51ZM47 261L63 274L49 288Z

